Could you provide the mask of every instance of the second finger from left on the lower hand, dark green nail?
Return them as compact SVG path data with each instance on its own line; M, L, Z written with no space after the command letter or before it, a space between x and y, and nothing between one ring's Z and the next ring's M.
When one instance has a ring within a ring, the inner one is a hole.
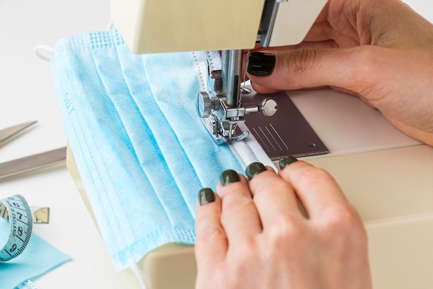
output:
M227 172L226 170L222 175ZM230 245L243 243L243 238L261 232L261 222L252 201L248 181L243 175L237 176L237 180L216 186L222 200L221 223Z

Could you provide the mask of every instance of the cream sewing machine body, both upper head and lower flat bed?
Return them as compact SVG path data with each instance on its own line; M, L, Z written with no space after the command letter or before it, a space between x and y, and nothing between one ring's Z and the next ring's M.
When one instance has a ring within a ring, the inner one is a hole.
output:
M110 0L113 24L134 53L225 51L221 69L225 91L221 99L228 108L239 107L241 51L252 49L257 40L263 46L301 42L325 3L326 0ZM211 78L212 71L208 70L208 74ZM212 83L208 86L208 90L215 90ZM198 96L201 92L197 91ZM430 271L413 268L433 266L433 234L426 229L433 225L432 148L400 134L380 113L356 98L324 90L320 96L294 91L291 99L331 150L326 157L310 157L306 161L331 172L365 222L374 287L431 288ZM335 103L339 105L337 109ZM253 110L261 110L260 105ZM208 113L207 108L201 116ZM250 128L249 120L246 125ZM232 140L229 137L221 143ZM86 201L72 155L68 156L68 169L75 173L75 182ZM378 175L383 175L383 182ZM412 197L407 196L408 191ZM417 202L411 202L412 199ZM86 204L92 211L89 202ZM402 263L400 256L407 258L408 263ZM416 260L416 264L410 260ZM149 289L194 288L196 265L192 246L167 244L143 257L138 266ZM120 275L128 288L140 288L131 271Z

